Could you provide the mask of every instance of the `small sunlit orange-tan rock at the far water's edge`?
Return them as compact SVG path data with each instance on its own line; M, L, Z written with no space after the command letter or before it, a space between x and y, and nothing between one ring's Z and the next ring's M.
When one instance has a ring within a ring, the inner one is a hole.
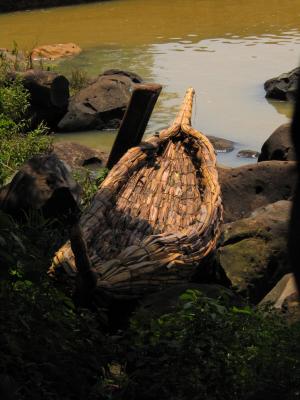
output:
M58 58L75 56L81 51L81 48L75 43L46 44L35 47L31 52L31 57L33 60L57 60Z

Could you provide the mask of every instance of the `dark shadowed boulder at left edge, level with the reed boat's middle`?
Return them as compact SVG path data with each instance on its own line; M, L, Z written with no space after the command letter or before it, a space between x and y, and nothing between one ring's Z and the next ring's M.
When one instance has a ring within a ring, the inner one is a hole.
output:
M16 217L32 209L45 217L78 212L80 187L53 153L31 158L2 191L0 209Z

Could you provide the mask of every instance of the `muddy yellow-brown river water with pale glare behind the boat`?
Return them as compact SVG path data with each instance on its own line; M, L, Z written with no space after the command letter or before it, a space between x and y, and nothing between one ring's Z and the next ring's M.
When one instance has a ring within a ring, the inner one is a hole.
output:
M112 0L0 15L0 47L75 42L83 52L61 61L69 74L131 70L163 85L147 133L175 117L193 86L193 126L236 142L219 162L238 165L240 149L262 143L292 113L292 105L268 101L263 83L298 65L299 0ZM108 150L113 132L58 135Z

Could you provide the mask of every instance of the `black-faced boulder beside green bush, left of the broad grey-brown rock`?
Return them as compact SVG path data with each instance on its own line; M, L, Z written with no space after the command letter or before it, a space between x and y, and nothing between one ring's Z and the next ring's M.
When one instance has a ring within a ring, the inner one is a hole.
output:
M69 81L63 75L42 70L27 70L17 73L23 79L24 87L30 93L30 113L33 125L45 121L51 128L67 112ZM12 74L14 78L16 74Z

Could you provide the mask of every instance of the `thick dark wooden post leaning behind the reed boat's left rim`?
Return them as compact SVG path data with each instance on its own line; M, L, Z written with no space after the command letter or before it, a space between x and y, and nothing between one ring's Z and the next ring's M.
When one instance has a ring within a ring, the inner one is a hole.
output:
M111 169L131 147L137 146L146 130L149 118L161 92L155 83L136 84L110 152L107 167Z

